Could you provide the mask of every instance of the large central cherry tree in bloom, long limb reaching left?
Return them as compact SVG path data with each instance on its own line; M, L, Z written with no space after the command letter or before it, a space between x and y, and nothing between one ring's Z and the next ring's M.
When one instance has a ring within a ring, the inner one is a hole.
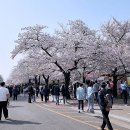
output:
M42 30L45 26L24 28L19 34L18 44L12 52L14 58L18 53L26 53L38 49L44 52L51 63L54 63L65 78L68 88L70 72L80 67L80 61L89 59L95 45L95 31L89 29L81 20L70 21L68 28L61 28L55 36L50 36Z

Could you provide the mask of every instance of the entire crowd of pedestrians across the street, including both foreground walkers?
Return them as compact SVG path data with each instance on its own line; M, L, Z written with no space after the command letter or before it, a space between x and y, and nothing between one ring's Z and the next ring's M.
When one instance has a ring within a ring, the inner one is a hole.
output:
M127 105L128 103L128 88L129 86L125 81L120 82L121 97L123 98L123 103ZM35 86L30 83L27 86L26 92L28 94L28 103L36 101L36 97L39 97L41 101L47 103L49 101L49 96L52 96L52 102L55 102L56 105L60 104L60 96L62 95L63 104L67 102L67 88L64 84L59 85L54 83L49 88L47 85ZM9 97L15 101L17 96L20 93L20 88L18 86L6 87L5 82L0 84L0 120L2 117L2 110L5 119L8 118L8 109L7 104L9 102ZM25 94L25 93L24 93ZM108 107L108 100L106 101L107 96L111 98L111 104L113 104L113 81L109 79L108 81L91 81L87 80L86 83L77 82L73 84L71 89L71 97L77 100L78 103L78 112L85 111L85 102L87 103L87 112L94 113L94 103L96 102L101 109L103 115L103 123L101 129L104 130L105 126L108 126L109 130L113 130L112 125L109 121L109 112L112 107ZM35 97L36 96L36 97Z

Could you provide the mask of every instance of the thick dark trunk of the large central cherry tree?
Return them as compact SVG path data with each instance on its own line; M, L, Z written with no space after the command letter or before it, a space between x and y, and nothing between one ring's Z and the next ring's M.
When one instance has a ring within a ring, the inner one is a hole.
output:
M66 98L70 99L69 84L70 84L70 72L64 72L65 87L66 87Z

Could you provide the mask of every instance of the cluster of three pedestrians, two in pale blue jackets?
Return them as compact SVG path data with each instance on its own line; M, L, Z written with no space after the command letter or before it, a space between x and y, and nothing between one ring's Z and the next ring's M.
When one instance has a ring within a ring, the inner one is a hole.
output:
M80 105L82 106L82 111L84 111L84 100L87 102L87 112L94 113L94 97L98 102L98 91L99 84L97 81L93 83L92 81L87 81L86 84L77 83L76 98L78 100L78 112L80 113Z

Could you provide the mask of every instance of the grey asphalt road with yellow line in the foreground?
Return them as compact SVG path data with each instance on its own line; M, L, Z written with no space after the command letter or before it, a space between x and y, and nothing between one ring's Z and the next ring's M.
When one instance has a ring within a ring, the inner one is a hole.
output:
M37 100L38 101L38 100ZM98 130L102 117L86 112L78 113L70 105L55 103L27 103L27 97L10 101L9 119L2 117L1 130ZM127 130L113 124L114 130Z

